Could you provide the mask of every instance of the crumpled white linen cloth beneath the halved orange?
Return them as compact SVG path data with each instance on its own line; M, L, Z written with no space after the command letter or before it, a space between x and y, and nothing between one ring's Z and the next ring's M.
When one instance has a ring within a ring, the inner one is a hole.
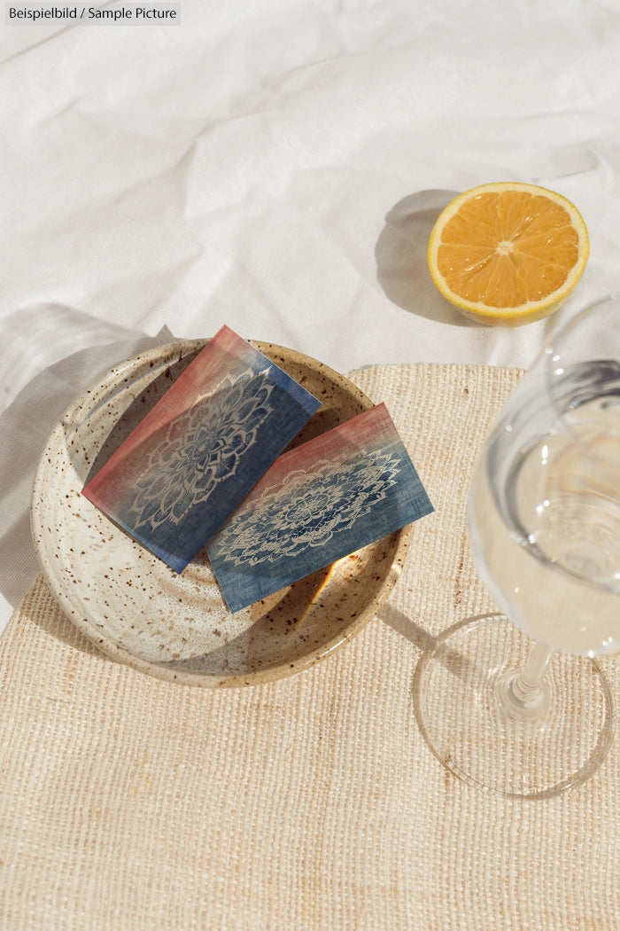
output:
M178 10L1 27L0 628L49 429L145 342L228 323L339 371L527 367L620 282L619 0ZM569 303L519 329L458 315L426 265L438 210L497 180L568 196L591 239Z

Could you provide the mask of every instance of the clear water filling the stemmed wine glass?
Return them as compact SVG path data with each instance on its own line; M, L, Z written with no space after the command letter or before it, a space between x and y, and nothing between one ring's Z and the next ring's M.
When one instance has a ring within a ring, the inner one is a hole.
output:
M535 383L496 427L470 497L482 579L510 620L569 653L620 649L620 366Z

